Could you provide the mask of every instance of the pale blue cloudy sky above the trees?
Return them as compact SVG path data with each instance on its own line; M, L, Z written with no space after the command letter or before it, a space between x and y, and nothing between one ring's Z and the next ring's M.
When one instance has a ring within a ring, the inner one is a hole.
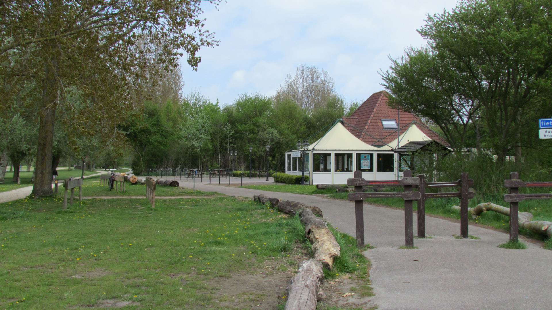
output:
M363 102L383 90L379 72L389 56L425 41L417 33L427 14L456 0L227 0L208 2L205 29L220 41L204 47L198 71L181 60L184 94L199 91L220 105L241 94L274 95L288 74L305 64L326 70L346 102Z

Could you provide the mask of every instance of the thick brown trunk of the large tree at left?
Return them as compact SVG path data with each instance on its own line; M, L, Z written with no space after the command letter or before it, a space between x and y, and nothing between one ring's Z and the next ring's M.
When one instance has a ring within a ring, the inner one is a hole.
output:
M36 147L35 181L31 196L35 198L50 196L52 191L52 148L54 147L54 124L56 120L56 108L58 104L57 92L57 58L51 49L52 45L45 44L46 60L44 68L45 76L42 82L43 93L41 109L39 111L38 145Z

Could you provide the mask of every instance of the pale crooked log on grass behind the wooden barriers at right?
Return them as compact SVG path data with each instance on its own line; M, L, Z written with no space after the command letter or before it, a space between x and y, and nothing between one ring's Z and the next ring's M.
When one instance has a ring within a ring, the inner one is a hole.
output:
M452 210L460 211L459 206L452 206ZM510 216L510 209L507 207L492 204L491 202L484 202L475 206L475 208L468 208L468 213L471 217L476 218L483 212L495 211L497 213ZM552 222L549 221L532 221L533 213L530 212L518 212L518 225L537 234L544 234L548 237L552 237Z

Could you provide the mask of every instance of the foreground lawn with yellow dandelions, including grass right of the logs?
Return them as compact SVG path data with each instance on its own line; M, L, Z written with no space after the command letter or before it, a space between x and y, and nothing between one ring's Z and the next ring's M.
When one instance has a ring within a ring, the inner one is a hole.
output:
M60 195L0 204L0 308L227 309L218 305L228 279L268 262L293 271L289 255L304 240L298 218L237 197L157 200L155 210L146 199L89 199L61 209ZM327 276L356 272L368 283L354 238L336 237L342 258ZM282 286L244 297L242 308Z

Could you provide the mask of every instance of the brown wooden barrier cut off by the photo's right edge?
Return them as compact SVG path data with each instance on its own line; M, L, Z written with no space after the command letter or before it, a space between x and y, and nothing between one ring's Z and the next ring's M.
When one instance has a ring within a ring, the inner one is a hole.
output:
M519 173L511 172L510 179L504 181L509 194L504 201L510 203L510 241L518 241L518 204L527 199L552 199L552 194L519 194L519 188L552 188L552 182L524 182L519 180Z

